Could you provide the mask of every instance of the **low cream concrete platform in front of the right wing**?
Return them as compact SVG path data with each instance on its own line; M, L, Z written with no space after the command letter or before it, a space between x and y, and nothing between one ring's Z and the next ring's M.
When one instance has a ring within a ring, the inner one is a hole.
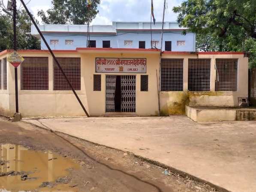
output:
M196 122L256 121L256 108L186 106L186 115Z

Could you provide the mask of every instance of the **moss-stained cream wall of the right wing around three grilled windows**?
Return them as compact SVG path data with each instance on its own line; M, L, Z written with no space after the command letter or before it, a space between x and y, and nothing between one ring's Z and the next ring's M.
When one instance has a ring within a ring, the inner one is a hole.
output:
M185 105L191 106L237 106L238 97L248 97L248 58L244 55L171 55L163 54L163 58L184 58L184 91L161 92L161 113L185 114ZM188 92L188 59L210 58L211 59L211 85L209 92ZM238 59L238 90L215 91L215 59L237 58Z

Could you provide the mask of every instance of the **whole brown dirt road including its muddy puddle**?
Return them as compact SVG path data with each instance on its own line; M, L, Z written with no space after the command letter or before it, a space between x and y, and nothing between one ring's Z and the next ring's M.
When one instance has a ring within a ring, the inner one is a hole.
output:
M24 122L0 117L0 136L0 192L219 192L133 154Z

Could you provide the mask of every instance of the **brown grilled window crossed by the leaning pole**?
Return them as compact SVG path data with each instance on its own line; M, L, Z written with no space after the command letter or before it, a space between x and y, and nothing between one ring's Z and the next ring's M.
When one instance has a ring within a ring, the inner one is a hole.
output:
M75 90L81 90L81 59L57 58ZM71 90L68 82L54 61L54 90Z

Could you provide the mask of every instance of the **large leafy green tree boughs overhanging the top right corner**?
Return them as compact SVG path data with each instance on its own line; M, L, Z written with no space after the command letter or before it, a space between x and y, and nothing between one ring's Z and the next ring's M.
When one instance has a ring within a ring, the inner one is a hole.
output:
M224 37L238 26L256 39L256 0L185 0L173 10L192 32Z

